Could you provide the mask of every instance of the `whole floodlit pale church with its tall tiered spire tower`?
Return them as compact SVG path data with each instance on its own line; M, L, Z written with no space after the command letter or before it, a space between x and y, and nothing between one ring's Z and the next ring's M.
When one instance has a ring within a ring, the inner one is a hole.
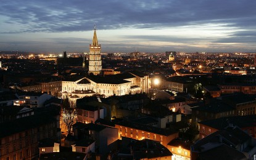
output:
M93 94L110 97L149 92L149 76L139 71L102 75L101 45L94 26L93 42L89 45L89 76L75 76L62 81L62 98L76 100Z

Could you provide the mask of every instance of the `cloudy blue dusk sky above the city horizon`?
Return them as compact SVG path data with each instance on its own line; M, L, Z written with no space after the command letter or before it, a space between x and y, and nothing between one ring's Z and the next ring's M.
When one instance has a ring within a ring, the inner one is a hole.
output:
M1 0L0 50L256 52L255 0Z

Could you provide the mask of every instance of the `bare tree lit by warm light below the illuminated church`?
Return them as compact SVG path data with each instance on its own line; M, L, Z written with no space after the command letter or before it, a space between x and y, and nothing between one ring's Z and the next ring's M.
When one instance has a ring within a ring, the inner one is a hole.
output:
M71 133L73 124L76 123L77 114L75 110L75 105L69 103L68 99L64 99L62 105L62 122L67 126L68 134Z

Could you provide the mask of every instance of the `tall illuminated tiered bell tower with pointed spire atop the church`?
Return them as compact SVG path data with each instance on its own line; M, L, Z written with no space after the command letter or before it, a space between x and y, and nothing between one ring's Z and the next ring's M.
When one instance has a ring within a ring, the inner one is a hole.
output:
M101 44L98 44L96 26L94 25L93 43L89 45L89 74L94 75L101 74L102 62L101 62Z

